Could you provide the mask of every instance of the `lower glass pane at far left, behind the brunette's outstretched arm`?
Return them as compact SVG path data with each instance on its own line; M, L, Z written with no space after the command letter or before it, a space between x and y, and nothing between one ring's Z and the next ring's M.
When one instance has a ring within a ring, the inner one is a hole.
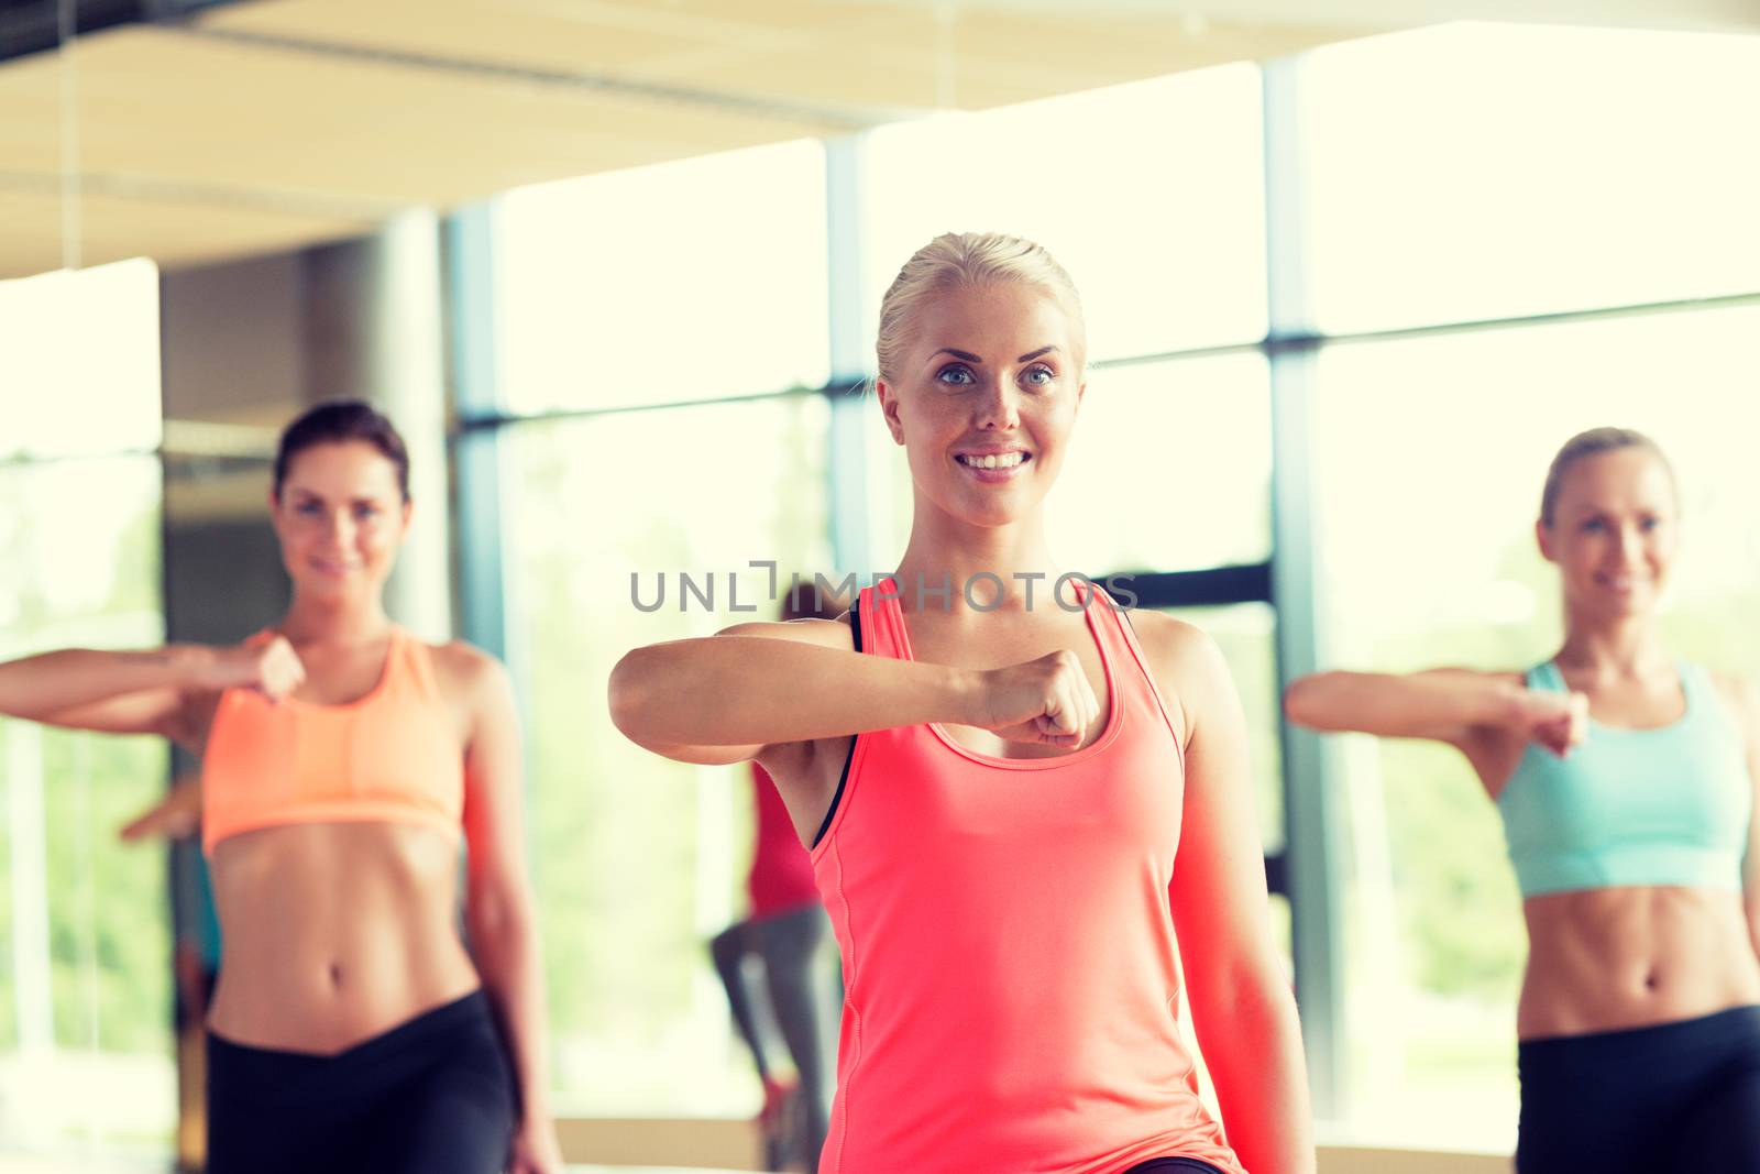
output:
M0 658L164 639L158 461L0 468ZM116 831L165 745L0 720L0 1148L164 1155L176 1116L162 848Z

